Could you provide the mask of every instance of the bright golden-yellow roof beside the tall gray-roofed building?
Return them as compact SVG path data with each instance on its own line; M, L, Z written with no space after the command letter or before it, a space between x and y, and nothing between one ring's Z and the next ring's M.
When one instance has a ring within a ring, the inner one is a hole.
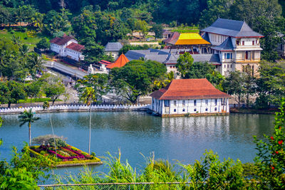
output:
M199 33L180 33L179 38L174 45L199 45L199 44L211 44L205 41Z

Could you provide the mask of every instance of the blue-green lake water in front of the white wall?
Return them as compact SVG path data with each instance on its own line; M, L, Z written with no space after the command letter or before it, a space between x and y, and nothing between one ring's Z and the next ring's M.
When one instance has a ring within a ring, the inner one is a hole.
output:
M37 114L41 117L31 125L32 137L51 134L49 117L58 136L68 144L88 152L89 113L60 112ZM11 158L11 147L19 149L28 142L28 125L19 127L18 115L2 115L0 128L0 159ZM145 157L154 152L156 159L169 159L175 163L194 163L205 149L212 149L221 159L231 157L252 162L255 157L253 135L273 132L274 115L231 114L207 117L154 117L146 112L92 112L91 152L106 156L106 152L128 159L133 167L144 167ZM82 167L57 169L77 173ZM104 171L103 166L93 167Z

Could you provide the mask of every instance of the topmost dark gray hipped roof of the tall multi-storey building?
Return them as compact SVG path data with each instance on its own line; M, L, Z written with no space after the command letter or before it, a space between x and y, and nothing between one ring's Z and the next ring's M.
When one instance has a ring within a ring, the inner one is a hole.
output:
M262 37L260 33L253 31L244 21L229 19L217 19L211 26L202 29L202 31L232 37Z

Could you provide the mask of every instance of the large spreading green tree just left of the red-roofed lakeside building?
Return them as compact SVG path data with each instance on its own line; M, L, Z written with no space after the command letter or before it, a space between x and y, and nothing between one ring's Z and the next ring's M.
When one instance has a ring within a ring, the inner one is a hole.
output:
M135 103L140 95L150 93L154 81L165 73L165 65L156 61L132 60L111 70L111 85L117 95Z

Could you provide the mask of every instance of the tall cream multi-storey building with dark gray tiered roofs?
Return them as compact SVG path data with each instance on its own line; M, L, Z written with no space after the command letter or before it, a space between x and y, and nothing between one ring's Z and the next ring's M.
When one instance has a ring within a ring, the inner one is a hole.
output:
M211 26L202 29L202 36L212 44L213 53L219 55L222 75L234 70L257 73L262 48L259 40L263 36L244 21L217 19Z

